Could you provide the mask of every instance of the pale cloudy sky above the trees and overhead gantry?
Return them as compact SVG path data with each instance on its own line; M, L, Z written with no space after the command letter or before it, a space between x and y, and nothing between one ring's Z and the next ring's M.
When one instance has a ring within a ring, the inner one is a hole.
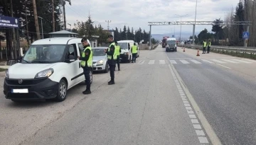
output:
M198 0L196 21L214 21L225 18L230 9L235 8L239 0ZM66 20L74 28L77 21L86 21L92 17L95 24L107 29L122 28L124 25L142 28L149 32L148 22L195 21L196 0L71 0L71 6L65 5ZM176 16L179 15L179 16ZM67 28L70 25L67 24ZM152 26L152 34L175 33L179 35L180 25ZM196 25L196 34L204 28L211 31L211 25ZM182 25L182 33L193 32L193 25Z

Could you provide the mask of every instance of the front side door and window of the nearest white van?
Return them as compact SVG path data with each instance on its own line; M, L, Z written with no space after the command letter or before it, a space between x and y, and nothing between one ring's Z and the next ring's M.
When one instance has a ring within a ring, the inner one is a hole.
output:
M76 83L78 83L80 80L80 68L81 68L81 64L80 64L80 60L78 60L78 47L76 44L71 44L69 45L68 48L68 55L67 55L68 59L71 60L71 62L69 62L69 67L68 67L68 73L70 75L70 86L75 85Z

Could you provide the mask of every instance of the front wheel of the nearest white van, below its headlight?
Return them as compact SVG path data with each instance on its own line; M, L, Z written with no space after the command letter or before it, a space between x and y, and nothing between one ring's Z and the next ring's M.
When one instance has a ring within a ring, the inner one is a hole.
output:
M67 90L68 90L67 83L65 82L64 79L61 79L60 83L58 84L58 92L55 100L57 100L58 102L65 100L65 98L67 97Z

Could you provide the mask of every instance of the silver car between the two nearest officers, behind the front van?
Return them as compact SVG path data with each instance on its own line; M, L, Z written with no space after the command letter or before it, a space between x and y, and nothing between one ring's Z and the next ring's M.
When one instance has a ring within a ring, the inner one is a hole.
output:
M104 52L107 49L108 47L92 47L93 71L103 71L105 73L109 71L107 54Z

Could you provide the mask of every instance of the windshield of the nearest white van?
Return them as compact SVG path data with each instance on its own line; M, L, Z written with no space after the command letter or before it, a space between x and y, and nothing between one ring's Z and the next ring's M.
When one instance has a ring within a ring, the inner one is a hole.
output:
M55 63L63 58L66 45L31 45L22 63Z

